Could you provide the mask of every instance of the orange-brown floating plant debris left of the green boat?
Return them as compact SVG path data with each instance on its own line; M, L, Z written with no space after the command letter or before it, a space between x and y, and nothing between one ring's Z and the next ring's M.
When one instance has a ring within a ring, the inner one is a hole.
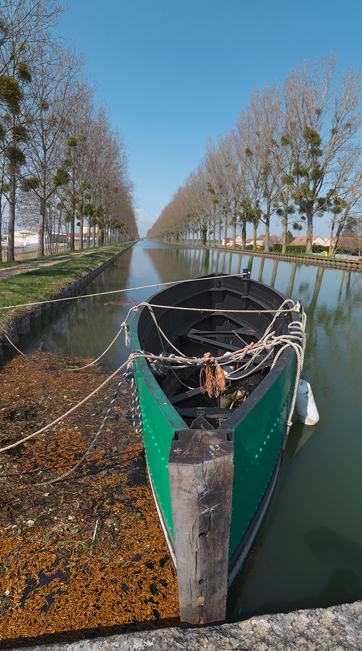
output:
M0 372L0 447L51 422L105 380L99 366L70 372L88 361L14 357ZM117 383L55 428L0 454L2 648L38 636L54 641L64 631L178 621L174 568L146 481L142 439L131 424L128 385L81 467L67 480L39 485L83 456Z

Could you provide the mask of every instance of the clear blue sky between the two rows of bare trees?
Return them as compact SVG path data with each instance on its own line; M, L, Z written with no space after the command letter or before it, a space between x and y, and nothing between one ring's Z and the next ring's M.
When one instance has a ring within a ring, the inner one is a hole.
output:
M341 69L359 67L361 24L361 0L70 0L59 29L84 48L129 143L140 234L198 165L208 135L232 128L253 87L330 50ZM315 234L328 235L326 218Z

